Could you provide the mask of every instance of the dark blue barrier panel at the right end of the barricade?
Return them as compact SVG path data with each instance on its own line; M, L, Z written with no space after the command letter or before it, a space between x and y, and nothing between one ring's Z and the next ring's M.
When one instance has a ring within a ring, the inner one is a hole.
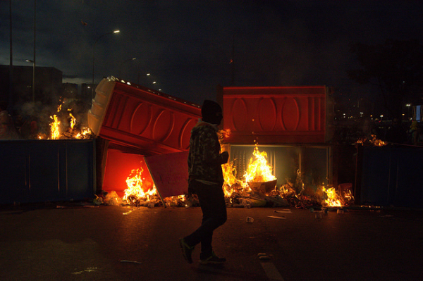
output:
M359 146L361 204L423 208L423 148Z

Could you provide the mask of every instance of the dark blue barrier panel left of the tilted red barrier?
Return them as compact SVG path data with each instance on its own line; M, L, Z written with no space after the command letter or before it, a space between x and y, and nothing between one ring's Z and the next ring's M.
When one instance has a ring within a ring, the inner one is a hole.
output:
M0 204L70 201L95 192L94 139L0 142Z

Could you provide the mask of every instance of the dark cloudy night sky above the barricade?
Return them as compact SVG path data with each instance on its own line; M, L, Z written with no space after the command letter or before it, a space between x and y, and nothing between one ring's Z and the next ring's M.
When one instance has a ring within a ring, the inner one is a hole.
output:
M34 3L12 0L13 65L32 65ZM216 99L216 85L327 85L365 96L370 88L345 73L358 67L348 44L423 42L422 15L421 1L408 0L37 0L36 62L61 70L63 82L91 83L97 41L94 82L113 75L197 104ZM0 16L8 65L9 1Z

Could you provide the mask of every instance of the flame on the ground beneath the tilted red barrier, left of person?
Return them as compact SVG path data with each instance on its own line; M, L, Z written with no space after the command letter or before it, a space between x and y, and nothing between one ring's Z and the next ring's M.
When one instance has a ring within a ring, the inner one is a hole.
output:
M123 200L129 200L130 197L135 197L135 199L145 199L149 201L149 198L157 194L157 189L153 185L152 188L148 189L147 192L144 192L143 182L142 182L142 168L132 170L130 175L126 178L127 189L125 189L125 195Z

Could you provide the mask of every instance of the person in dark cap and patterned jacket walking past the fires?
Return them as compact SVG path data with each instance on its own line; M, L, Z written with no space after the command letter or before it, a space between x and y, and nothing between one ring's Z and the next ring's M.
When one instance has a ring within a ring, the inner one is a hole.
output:
M227 151L221 152L218 126L223 118L222 108L215 101L205 100L202 120L191 130L188 154L188 191L197 194L202 210L202 223L190 235L179 239L183 257L192 263L192 251L201 243L201 264L222 264L212 248L213 232L226 222L226 202L223 193L221 165L228 162Z

